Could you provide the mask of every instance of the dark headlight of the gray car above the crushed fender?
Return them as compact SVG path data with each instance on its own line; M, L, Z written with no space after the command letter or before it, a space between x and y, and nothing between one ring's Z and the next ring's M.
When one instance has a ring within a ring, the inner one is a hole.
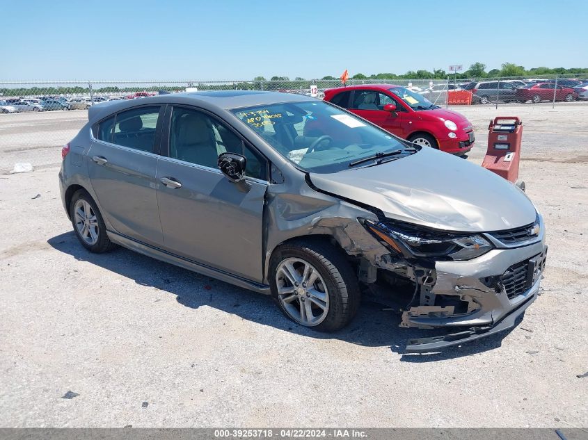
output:
M395 252L413 257L463 261L475 259L493 248L479 234L452 234L407 223L370 220L364 220L363 225Z

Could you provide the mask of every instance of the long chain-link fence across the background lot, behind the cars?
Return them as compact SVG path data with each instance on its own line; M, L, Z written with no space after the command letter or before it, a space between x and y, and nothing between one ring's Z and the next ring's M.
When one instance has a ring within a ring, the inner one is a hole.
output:
M588 74L543 75L536 77L500 77L454 79L350 79L347 85L389 83L418 92L438 106L472 104L509 104L513 102L539 104L540 102L585 101L580 88L588 82ZM2 113L12 113L6 106L16 107L14 113L24 111L51 111L86 109L89 106L113 99L135 99L162 92L175 93L204 90L270 90L299 95L324 97L324 90L340 87L341 81L312 79L296 81L5 81L0 82ZM535 85L530 89L530 85ZM538 87L538 86L541 87ZM527 92L526 90L531 90ZM537 99L539 97L539 99ZM527 99L528 98L528 99ZM35 105L26 106L20 101ZM57 102L55 102L57 101ZM81 102L84 101L84 102ZM60 104L61 103L61 104Z

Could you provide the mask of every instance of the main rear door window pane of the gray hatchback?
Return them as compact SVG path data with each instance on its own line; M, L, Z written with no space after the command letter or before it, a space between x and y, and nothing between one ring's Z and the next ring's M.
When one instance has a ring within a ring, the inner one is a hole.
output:
M159 106L134 108L118 113L111 142L142 152L153 152L158 119Z

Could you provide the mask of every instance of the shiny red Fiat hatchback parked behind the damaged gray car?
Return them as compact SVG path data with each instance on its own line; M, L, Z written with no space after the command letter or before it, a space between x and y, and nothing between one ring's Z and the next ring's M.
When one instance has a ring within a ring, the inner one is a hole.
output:
M472 124L465 116L400 85L333 88L325 91L324 99L419 145L460 155L474 146Z

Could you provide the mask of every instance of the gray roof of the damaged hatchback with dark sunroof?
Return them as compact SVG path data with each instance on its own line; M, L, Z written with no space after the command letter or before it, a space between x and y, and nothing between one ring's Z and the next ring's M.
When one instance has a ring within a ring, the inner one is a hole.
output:
M88 120L100 120L102 117L146 104L186 104L205 108L209 111L228 111L233 108L263 106L293 101L317 101L317 98L293 93L262 92L259 90L207 90L202 92L166 93L141 99L124 101L106 101L90 107Z

